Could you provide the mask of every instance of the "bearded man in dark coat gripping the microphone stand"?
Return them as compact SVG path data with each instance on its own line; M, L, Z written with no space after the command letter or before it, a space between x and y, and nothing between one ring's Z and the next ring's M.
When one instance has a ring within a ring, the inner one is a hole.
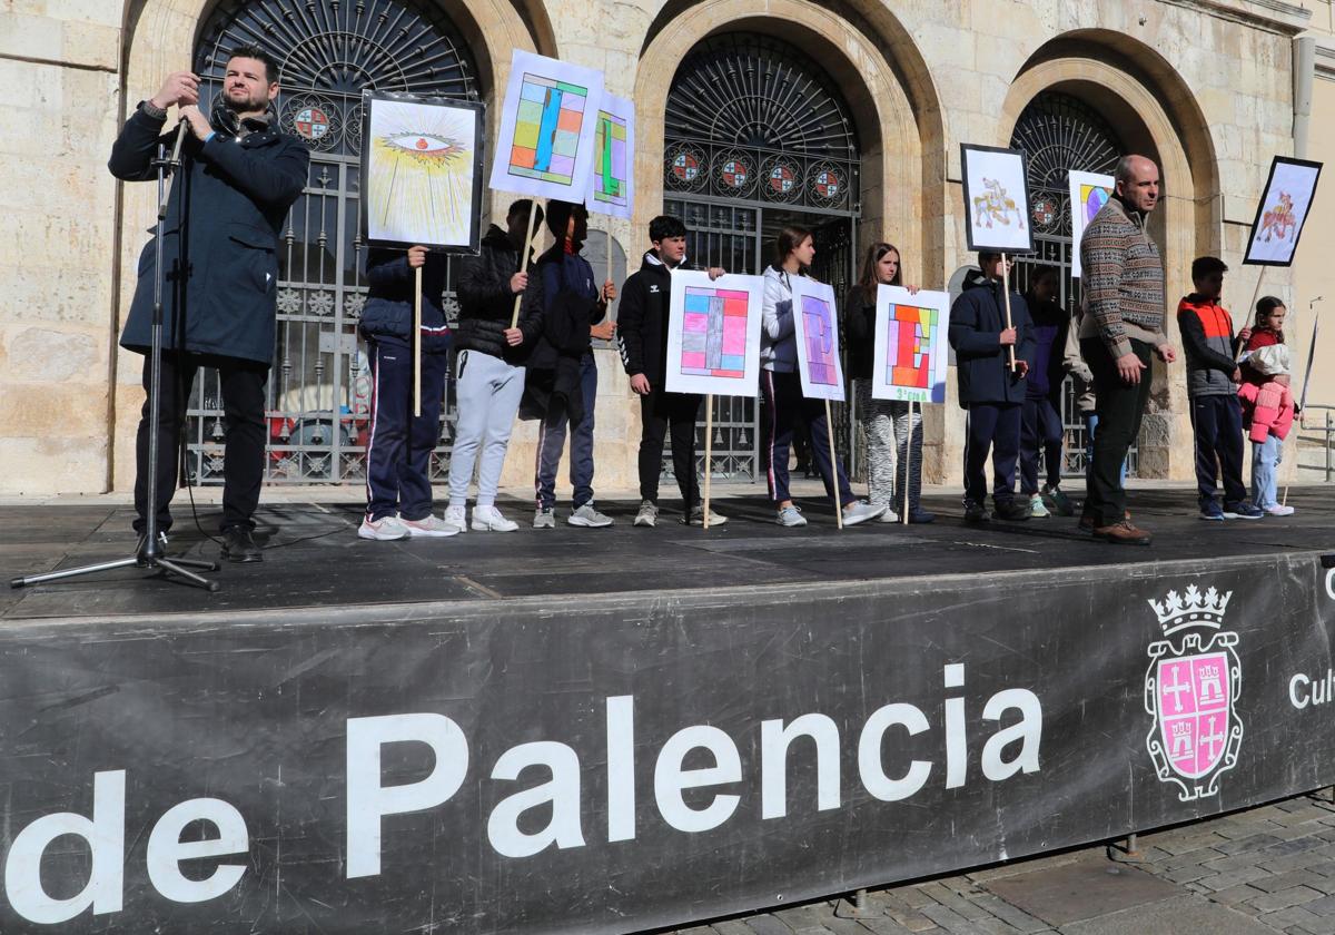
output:
M254 45L234 49L210 118L199 110L199 79L176 72L125 122L108 168L117 179L156 176L167 110L187 124L163 234L163 357L158 422L158 528L171 526L180 433L195 371L216 367L226 413L223 554L260 561L252 536L264 474L264 383L274 357L278 242L287 210L306 184L310 152L271 126L278 63ZM139 285L120 343L147 357L152 343L155 244L139 258ZM143 532L148 500L148 402L136 441L135 529Z

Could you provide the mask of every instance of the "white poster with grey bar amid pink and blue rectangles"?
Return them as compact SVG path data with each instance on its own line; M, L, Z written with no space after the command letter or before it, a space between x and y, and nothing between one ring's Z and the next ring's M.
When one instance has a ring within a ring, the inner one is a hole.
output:
M761 276L674 272L668 310L669 393L753 397L760 389Z

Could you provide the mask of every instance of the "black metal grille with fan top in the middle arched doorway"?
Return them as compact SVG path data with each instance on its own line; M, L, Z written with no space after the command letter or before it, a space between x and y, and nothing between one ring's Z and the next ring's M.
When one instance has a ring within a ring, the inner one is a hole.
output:
M701 266L760 274L780 227L814 232L812 275L837 294L853 275L858 215L858 143L838 91L797 48L766 36L713 36L682 60L668 94L663 210L688 230ZM844 406L836 443L846 443ZM760 477L760 407L714 398L714 480ZM705 426L697 426L704 469ZM665 476L672 462L663 459Z

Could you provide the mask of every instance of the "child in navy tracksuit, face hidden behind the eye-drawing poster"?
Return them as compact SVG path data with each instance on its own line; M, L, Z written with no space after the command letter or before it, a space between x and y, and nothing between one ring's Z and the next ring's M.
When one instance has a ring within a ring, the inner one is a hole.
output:
M413 290L422 268L422 414L413 415ZM431 514L431 451L441 439L441 399L450 329L441 295L446 259L413 247L371 250L370 294L360 333L371 361L371 430L366 442L367 540L453 536L458 529Z

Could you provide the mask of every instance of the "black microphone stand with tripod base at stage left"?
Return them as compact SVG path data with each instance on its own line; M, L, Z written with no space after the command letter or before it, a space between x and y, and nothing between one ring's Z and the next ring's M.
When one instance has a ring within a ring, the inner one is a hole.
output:
M162 451L159 451L158 445L158 422L162 411L163 279L166 278L166 272L163 270L163 232L164 222L167 220L167 202L171 198L172 183L176 180L175 170L180 168L180 147L186 140L187 128L188 124L182 120L180 128L176 132L176 143L172 146L171 156L166 156L166 150L159 146L158 158L152 162L152 164L158 168L158 223L154 231L154 255L156 259L156 267L154 275L152 347L150 350L148 366L148 500L144 518L144 533L139 540L139 545L135 548L135 554L128 558L116 558L112 561L97 562L95 565L84 565L81 568L47 572L44 574L29 574L27 577L19 577L9 581L11 588L24 588L27 585L41 584L44 581L72 578L80 574L93 574L96 572L109 572L115 568L128 568L131 565L152 570L171 572L172 574L180 576L190 584L198 585L210 592L215 592L219 588L216 581L210 581L208 578L188 570L196 568L204 572L216 572L218 562L203 561L199 558L167 558L164 556L163 544L158 541L158 459L162 457Z

